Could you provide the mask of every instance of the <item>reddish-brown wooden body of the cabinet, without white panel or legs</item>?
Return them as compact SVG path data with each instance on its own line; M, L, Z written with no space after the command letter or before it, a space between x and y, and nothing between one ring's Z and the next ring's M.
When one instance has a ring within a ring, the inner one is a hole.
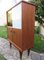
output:
M8 26L8 39L10 43L23 52L24 50L31 49L34 46L35 6L24 1L20 3L22 3L22 29ZM15 5L15 7L17 7L17 5Z

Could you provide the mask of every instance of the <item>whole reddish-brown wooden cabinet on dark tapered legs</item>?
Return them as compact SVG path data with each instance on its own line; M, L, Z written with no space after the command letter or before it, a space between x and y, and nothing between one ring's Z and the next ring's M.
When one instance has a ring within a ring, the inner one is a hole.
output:
M8 39L20 51L34 46L35 6L21 1L7 11Z

